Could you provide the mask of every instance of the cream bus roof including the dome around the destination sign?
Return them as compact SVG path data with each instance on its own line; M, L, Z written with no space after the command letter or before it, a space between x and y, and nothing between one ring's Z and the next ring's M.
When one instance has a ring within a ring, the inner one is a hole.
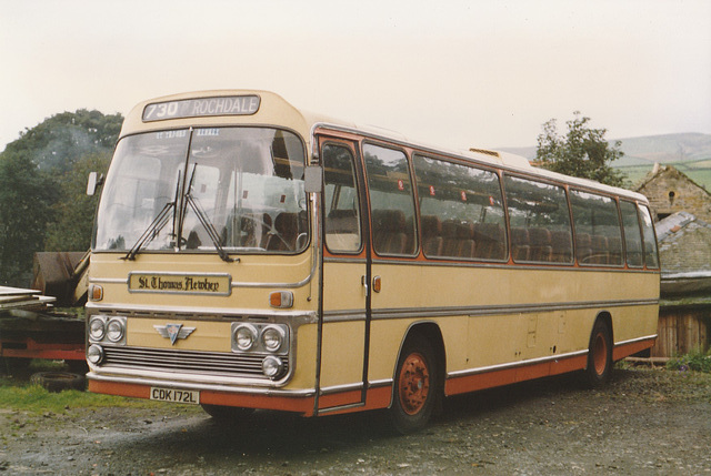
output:
M604 185L591 180L535 168L520 155L485 149L450 150L411 141L404 135L372 125L360 125L323 114L297 109L279 94L263 90L207 90L166 95L138 103L126 117L120 136L139 132L231 124L280 125L299 133L311 150L316 129L332 129L384 140L440 155L450 155L472 163L488 164L522 172L557 182L647 202L647 198L629 190Z

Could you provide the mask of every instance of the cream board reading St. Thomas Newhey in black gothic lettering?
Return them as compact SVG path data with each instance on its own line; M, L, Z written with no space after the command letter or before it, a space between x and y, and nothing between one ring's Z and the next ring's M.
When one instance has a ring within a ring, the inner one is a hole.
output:
M229 296L232 292L229 274L131 273L129 292L209 294Z

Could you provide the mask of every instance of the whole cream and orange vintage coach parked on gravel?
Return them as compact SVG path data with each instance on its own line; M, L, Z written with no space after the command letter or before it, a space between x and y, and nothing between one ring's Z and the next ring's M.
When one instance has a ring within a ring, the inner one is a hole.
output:
M220 90L139 103L101 182L91 392L408 433L450 395L602 385L657 337L647 199L512 154Z

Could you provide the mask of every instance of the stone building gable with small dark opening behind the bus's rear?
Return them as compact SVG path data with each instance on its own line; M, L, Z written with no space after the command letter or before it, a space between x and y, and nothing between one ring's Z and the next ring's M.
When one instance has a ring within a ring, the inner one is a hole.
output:
M711 223L711 193L671 165L654 164L635 191L649 199L657 221L687 211Z

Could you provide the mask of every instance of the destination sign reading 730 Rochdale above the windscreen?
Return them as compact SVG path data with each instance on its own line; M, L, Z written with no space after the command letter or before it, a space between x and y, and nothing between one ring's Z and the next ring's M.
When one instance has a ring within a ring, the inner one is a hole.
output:
M143 109L143 122L209 115L251 115L259 111L260 104L261 98L257 94L152 102Z

